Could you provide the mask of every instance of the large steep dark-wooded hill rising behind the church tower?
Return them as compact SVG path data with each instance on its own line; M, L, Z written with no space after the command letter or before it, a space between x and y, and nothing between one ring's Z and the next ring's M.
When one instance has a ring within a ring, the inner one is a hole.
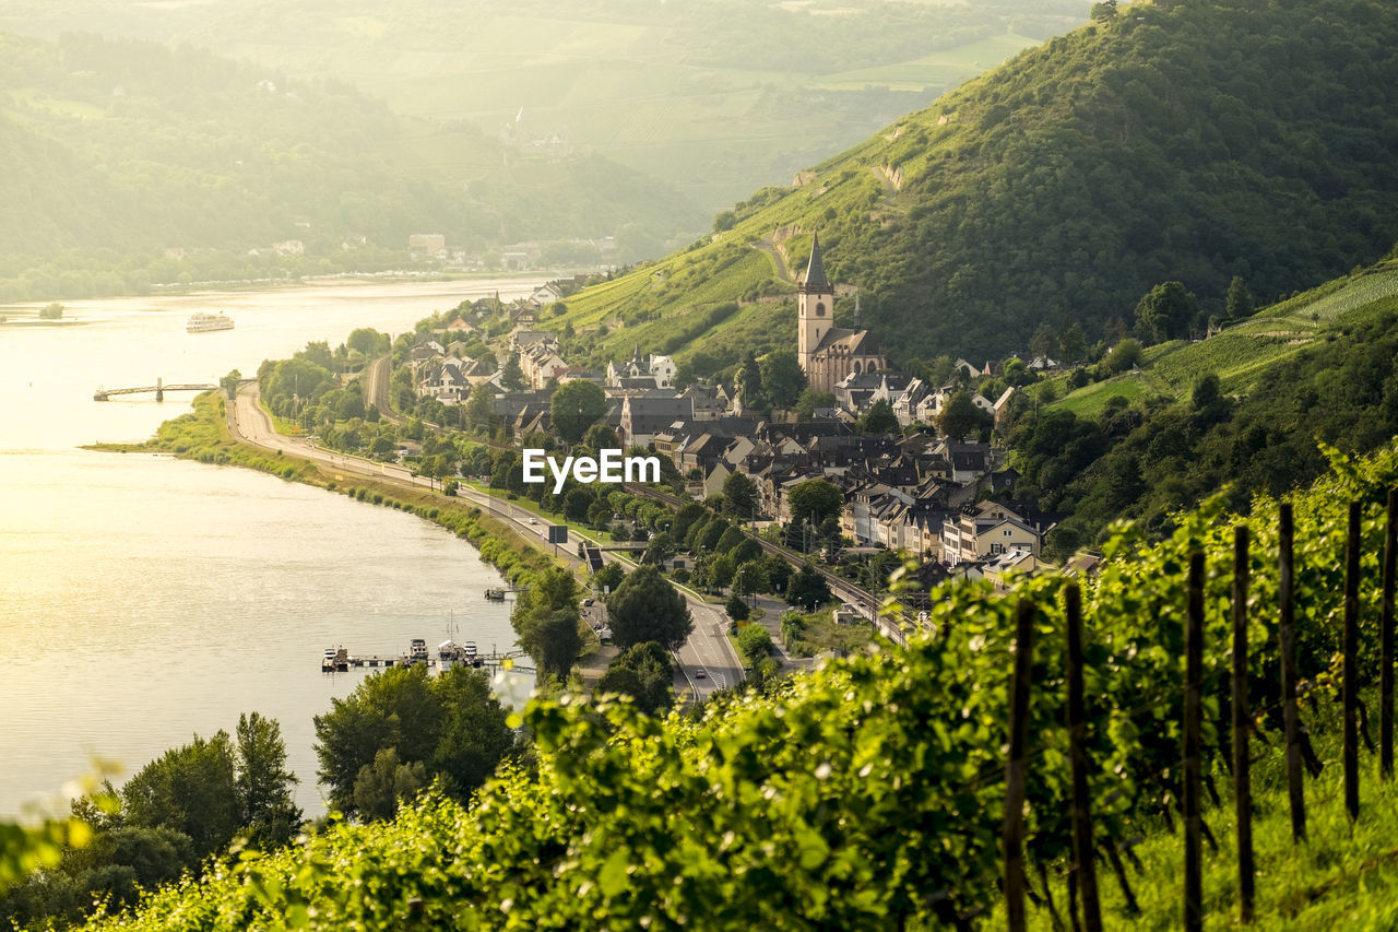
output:
M788 343L790 313L749 304L698 330L691 315L790 290L754 246L794 264L814 232L905 364L1023 351L1040 323L1096 339L1166 280L1206 313L1234 274L1275 299L1398 238L1395 43L1398 8L1367 0L1123 7L758 192L712 242L570 301L569 320L607 323L605 353L707 340L731 364L730 330Z

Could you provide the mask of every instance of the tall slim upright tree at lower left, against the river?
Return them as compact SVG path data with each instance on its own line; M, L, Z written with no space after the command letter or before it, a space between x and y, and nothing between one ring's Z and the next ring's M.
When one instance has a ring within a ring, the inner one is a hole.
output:
M280 848L296 837L301 807L292 788L299 782L287 770L281 725L260 714L238 718L238 802L242 824L253 847Z

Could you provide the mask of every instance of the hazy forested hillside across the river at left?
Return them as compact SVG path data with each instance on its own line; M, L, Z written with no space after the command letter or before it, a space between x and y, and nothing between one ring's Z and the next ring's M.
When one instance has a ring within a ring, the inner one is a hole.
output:
M0 35L0 299L401 264L414 232L480 250L644 230L636 257L703 223L597 154L524 160L343 84L84 34Z

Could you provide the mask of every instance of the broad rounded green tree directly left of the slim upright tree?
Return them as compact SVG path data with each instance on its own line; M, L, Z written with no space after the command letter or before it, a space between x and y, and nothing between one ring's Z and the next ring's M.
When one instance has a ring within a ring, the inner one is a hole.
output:
M165 751L122 786L127 823L173 828L190 837L200 855L222 851L243 824L238 764L228 732L194 736Z

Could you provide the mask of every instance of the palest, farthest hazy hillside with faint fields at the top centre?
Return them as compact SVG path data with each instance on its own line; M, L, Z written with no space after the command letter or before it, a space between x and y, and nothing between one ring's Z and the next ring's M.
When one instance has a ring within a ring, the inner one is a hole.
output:
M1086 11L1079 0L10 0L0 29L190 42L492 139L558 134L713 214Z

